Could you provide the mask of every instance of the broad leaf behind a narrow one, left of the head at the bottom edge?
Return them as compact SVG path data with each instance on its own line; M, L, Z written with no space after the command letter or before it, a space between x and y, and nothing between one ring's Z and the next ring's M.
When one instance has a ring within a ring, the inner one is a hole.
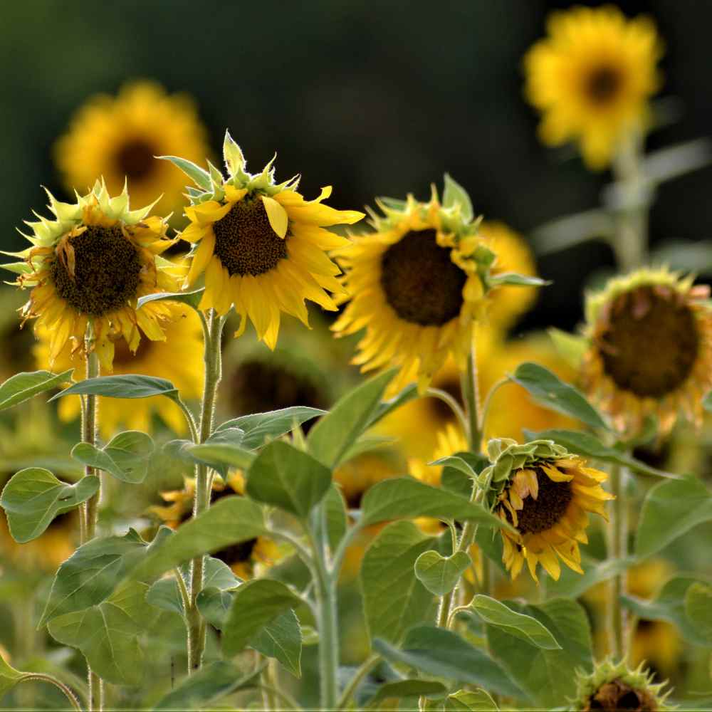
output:
M543 708L556 707L572 698L576 691L576 669L592 670L591 633L585 610L575 601L562 598L537 605L506 601L506 605L515 612L537 619L551 632L561 649L538 648L499 627L488 625L491 653L501 661L511 678Z

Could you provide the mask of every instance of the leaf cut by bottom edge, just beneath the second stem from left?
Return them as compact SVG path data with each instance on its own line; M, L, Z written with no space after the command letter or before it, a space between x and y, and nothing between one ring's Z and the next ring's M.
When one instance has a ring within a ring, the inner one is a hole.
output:
M156 712L202 710L220 698L253 685L255 674L245 674L235 664L216 660L193 671L175 689L160 699Z

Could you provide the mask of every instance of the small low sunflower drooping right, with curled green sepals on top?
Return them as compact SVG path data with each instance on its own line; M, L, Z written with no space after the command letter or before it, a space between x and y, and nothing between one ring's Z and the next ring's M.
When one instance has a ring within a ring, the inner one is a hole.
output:
M489 441L491 466L480 475L489 482L488 503L516 532L501 530L503 561L516 578L526 561L533 579L540 563L554 580L561 568L583 573L579 544L586 544L590 512L606 517L612 499L601 487L607 474L586 466L551 440L520 445L501 438Z

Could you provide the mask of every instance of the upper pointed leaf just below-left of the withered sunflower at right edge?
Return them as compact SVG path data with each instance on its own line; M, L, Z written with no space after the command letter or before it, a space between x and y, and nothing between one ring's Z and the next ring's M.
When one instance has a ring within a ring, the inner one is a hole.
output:
M564 383L548 368L526 362L517 367L510 379L527 389L540 405L581 420L592 428L609 430L600 413L584 395L572 385Z

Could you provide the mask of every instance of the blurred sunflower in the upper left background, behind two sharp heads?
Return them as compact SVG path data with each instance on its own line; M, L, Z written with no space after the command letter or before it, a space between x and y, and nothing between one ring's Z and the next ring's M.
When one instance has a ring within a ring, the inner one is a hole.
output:
M68 189L85 189L103 175L110 192L117 193L126 180L139 204L162 194L158 209L169 212L183 204L184 180L156 157L180 152L201 161L208 144L189 96L168 95L155 82L137 81L124 85L116 97L90 98L54 152Z

